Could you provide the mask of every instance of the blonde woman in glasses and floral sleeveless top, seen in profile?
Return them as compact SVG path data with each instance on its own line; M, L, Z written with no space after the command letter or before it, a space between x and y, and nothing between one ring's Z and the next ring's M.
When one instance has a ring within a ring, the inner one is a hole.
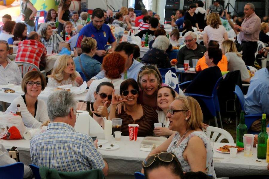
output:
M216 178L213 165L213 148L203 129L203 113L199 103L189 96L178 96L170 104L169 129L177 131L149 155L173 152L183 172L201 171Z

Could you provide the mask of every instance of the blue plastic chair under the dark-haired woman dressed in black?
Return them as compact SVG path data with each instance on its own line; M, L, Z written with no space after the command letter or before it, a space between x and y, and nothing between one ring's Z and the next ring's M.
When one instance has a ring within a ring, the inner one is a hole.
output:
M222 121L221 121L221 114L220 114L220 108L219 108L219 103L218 103L218 95L217 95L217 89L218 89L218 85L219 83L223 80L223 77L220 77L218 79L218 81L216 82L213 91L212 91L212 95L211 96L205 96L202 94L185 94L186 96L192 96L192 97L196 97L200 100L202 100L205 105L207 106L208 110L210 111L211 115L214 117L215 119L215 125L216 127L218 127L218 121L217 121L217 113L218 112L218 117L220 120L220 124L221 124L221 128L223 128L222 126ZM189 82L189 81L188 81ZM186 84L187 82L185 82ZM180 84L182 85L182 84Z

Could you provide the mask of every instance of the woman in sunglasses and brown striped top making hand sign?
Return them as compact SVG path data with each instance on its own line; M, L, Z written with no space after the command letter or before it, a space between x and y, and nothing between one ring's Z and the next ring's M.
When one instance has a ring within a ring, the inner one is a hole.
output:
M147 106L137 103L139 87L135 79L126 79L120 85L120 95L112 93L111 109L109 112L110 119L121 118L122 135L129 135L129 124L135 123L139 125L138 137L153 136L154 123L158 123L157 112ZM116 111L117 105L124 103L126 111L122 110L121 114Z

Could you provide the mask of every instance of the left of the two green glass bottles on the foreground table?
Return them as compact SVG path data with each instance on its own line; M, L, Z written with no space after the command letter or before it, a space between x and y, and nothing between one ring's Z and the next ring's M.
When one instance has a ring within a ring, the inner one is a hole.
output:
M244 134L247 134L247 126L245 125L245 111L241 111L239 124L236 127L236 146L244 148Z

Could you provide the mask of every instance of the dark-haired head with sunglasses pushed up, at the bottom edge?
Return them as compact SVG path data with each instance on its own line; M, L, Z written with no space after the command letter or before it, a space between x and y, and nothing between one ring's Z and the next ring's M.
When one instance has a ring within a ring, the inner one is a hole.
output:
M177 157L172 152L150 155L142 163L146 179L183 179L184 173Z

